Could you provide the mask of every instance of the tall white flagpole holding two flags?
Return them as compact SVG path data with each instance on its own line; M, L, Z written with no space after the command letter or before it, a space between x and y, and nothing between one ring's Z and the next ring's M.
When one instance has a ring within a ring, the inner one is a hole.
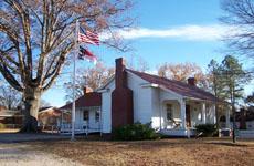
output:
M72 138L71 141L75 141L75 113L76 113L76 104L75 104L75 89L76 89L76 54L78 54L78 20L76 20L76 32L75 32L75 52L73 54L73 103L72 103Z

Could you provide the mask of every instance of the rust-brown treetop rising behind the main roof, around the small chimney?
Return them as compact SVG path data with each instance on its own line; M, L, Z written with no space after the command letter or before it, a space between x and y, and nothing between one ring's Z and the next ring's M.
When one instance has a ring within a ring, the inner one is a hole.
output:
M194 63L165 63L158 68L158 75L182 82L187 82L188 77L193 76L198 86L208 87L208 76Z

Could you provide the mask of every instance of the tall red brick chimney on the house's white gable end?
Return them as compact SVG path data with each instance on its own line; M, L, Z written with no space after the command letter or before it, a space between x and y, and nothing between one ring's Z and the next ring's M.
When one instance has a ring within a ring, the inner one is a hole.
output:
M133 91L128 89L125 69L124 59L116 59L116 87L112 93L112 128L134 123Z

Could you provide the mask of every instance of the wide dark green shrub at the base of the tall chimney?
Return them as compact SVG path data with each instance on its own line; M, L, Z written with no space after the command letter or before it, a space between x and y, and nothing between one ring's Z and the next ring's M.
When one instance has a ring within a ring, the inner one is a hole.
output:
M117 141L142 141L156 138L158 138L158 135L155 129L150 128L150 124L135 123L117 127L113 131L113 139Z

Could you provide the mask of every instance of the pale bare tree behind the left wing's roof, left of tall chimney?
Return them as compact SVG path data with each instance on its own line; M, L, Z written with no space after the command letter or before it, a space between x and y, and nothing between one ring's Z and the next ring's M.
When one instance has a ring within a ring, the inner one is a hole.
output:
M76 76L76 94L75 97L83 95L83 89L85 86L96 90L104 85L115 73L114 68L107 68L102 62L98 62L95 66L88 69L80 69ZM72 82L64 83L64 89L66 92L65 100L72 101L73 94L70 91L72 87Z

